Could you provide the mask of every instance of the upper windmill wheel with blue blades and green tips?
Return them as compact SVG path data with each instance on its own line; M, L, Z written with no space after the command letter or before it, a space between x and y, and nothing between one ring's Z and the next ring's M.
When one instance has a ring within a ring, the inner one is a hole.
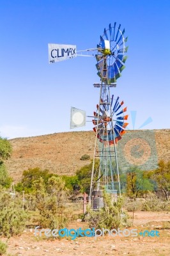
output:
M125 68L125 61L127 60L127 56L125 56L128 47L125 47L125 42L127 42L127 37L124 38L125 29L123 31L120 30L121 24L116 26L116 22L114 22L114 26L111 27L109 24L109 29L104 29L104 35L100 36L100 43L97 45L99 49L104 49L105 40L110 42L110 51L109 54L107 52L107 77L109 79L109 83L116 83L116 79L121 76L122 70ZM103 74L103 66L104 66L104 51L98 51L96 55L97 58L97 70L98 76L102 78Z

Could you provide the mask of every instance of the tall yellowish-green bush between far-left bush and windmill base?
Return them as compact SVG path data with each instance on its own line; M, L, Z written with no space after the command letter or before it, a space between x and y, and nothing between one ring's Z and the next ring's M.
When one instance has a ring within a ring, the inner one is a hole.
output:
M68 190L61 177L50 177L47 187L42 177L34 182L36 207L40 211L39 225L51 229L62 228L68 216L65 204L68 198Z

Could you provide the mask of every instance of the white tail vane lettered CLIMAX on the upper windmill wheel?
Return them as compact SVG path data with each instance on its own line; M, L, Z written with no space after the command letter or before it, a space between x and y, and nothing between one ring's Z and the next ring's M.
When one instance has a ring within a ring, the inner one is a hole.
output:
M49 63L76 57L76 45L49 44Z

